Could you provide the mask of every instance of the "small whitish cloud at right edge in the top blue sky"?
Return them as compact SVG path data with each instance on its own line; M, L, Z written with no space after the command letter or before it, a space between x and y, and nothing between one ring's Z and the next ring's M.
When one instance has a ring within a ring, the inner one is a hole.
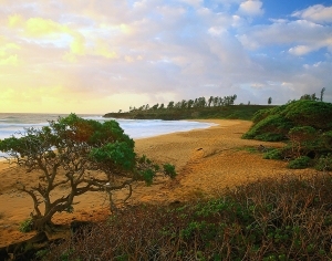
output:
M304 10L292 13L292 17L301 18L318 23L332 22L332 7L324 7L322 4L311 6Z

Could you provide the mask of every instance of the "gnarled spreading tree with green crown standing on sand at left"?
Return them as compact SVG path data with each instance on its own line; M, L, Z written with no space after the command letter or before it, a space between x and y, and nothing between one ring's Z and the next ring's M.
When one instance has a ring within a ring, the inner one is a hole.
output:
M25 168L27 173L41 173L34 186L19 184L19 189L33 200L32 223L39 231L52 230L53 215L72 211L79 195L106 191L113 207L113 190L127 188L128 198L136 180L151 184L157 173L175 176L169 164L160 169L145 156L138 158L134 140L117 122L100 123L75 114L42 128L27 128L20 137L6 138L0 142L0 150L10 156L10 164ZM66 192L61 198L51 198L60 186L66 186Z

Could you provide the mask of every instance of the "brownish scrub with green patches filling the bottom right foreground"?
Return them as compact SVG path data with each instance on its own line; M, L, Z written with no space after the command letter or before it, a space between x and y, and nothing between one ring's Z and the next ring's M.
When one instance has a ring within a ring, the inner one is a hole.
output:
M45 260L331 260L330 175L269 178L222 197L136 206L85 228Z

